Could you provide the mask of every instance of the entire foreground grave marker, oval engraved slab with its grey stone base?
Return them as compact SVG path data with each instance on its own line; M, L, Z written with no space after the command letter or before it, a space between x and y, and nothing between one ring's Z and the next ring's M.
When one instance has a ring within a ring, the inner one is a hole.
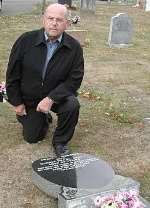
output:
M132 190L139 192L138 182L115 175L107 162L89 154L42 158L34 161L32 168L33 183L46 194L58 198L58 208L100 208L97 205L99 197L115 196L125 191L129 194ZM143 198L140 197L139 202L139 207L126 208L150 208ZM103 208L118 207L107 205Z

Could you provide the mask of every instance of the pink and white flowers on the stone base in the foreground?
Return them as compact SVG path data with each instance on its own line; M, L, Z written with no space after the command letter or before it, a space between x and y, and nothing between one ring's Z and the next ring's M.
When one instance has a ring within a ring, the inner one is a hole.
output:
M137 190L118 191L107 196L97 196L94 204L96 208L144 208L138 195Z

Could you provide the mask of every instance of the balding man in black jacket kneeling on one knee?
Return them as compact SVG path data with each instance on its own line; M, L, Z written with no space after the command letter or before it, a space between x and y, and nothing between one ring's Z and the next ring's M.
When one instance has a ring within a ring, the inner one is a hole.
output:
M64 5L49 5L43 28L26 32L15 42L6 73L8 101L28 143L43 140L52 120L50 111L56 113L52 144L57 156L69 153L67 143L79 116L77 90L84 74L82 48L64 32L69 24Z

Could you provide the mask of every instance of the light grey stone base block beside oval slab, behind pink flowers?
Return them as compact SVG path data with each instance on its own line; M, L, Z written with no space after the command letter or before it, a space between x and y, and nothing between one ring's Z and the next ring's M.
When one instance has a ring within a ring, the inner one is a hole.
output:
M85 192L83 190L75 190L63 188L58 197L58 208L93 208L94 199L97 196L106 196L116 193L118 190L137 190L139 191L139 183L131 178L115 175L112 181L104 187L101 187L97 192ZM82 205L82 206L81 206Z

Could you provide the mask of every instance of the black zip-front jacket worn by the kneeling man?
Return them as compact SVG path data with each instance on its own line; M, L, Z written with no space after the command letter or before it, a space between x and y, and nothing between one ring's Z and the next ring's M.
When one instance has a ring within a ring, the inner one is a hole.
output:
M46 53L43 29L24 33L15 42L6 73L8 101L12 105L39 102L46 96L59 103L77 94L84 74L83 51L78 41L64 32L42 80Z

